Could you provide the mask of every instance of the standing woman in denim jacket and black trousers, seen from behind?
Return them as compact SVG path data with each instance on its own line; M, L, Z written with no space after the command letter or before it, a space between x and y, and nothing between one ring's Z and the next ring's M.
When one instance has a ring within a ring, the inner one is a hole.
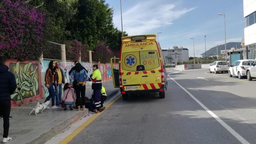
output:
M74 80L72 77L74 76ZM80 111L81 104L83 107L83 111L85 110L85 85L88 80L88 73L83 69L80 63L77 63L74 67L74 70L70 74L70 82L73 83L73 87L76 90L77 95L77 110ZM82 98L82 102L80 99Z

